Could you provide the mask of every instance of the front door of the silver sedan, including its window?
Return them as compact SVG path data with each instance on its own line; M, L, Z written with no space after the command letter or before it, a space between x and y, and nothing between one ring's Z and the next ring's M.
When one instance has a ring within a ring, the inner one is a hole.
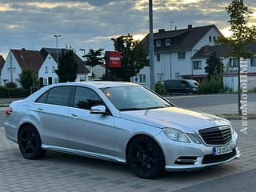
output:
M90 88L78 86L70 107L69 147L90 153L114 155L114 117L111 114L90 114L91 106L104 105Z

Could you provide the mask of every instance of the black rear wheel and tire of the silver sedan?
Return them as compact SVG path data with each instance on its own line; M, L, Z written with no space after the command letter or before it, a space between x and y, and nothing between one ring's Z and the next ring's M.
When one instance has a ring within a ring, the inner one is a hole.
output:
M24 158L38 159L45 156L46 151L41 148L42 142L38 130L34 126L24 126L18 134L18 147Z

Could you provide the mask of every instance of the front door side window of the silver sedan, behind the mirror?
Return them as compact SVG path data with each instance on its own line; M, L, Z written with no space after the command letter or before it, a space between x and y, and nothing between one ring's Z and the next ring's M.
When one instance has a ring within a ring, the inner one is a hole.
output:
M74 107L83 110L90 110L92 106L102 106L104 102L94 92L86 87L78 87L74 95Z

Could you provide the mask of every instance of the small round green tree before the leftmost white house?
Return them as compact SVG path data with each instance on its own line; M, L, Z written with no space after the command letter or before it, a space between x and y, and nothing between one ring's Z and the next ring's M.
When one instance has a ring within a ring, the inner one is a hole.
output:
M24 89L30 90L31 86L38 86L38 75L32 70L22 70L22 73L18 74L18 82Z

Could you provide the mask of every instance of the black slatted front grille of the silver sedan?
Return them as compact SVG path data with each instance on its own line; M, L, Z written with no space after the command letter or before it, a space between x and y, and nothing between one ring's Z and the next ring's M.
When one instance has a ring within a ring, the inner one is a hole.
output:
M199 134L206 144L225 145L231 140L230 126L217 126L199 130Z

